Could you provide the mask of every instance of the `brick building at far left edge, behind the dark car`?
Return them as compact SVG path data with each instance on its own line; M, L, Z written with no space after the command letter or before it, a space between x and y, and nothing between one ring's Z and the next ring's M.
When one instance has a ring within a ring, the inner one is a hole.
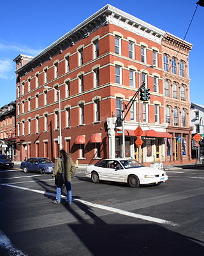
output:
M15 159L15 102L0 108L0 154Z

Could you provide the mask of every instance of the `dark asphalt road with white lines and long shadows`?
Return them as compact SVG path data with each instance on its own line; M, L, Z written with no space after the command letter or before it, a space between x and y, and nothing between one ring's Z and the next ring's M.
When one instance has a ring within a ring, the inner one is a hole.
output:
M1 256L204 255L202 168L136 189L93 184L81 171L67 207L52 204L51 175L0 170Z

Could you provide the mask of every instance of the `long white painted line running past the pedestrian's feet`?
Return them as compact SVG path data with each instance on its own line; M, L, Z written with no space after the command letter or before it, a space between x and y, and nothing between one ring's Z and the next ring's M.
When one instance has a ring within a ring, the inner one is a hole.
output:
M50 193L50 192L46 192L46 191L42 191L42 190L38 190L38 189L24 188L24 187L19 187L19 186L15 186L15 185L11 185L11 184L6 184L6 183L0 184L0 185L1 186L8 186L8 187L11 187L11 188L27 190L27 191L31 191L31 192L34 192L34 193L40 193L42 195L49 195L49 196L54 196L54 197L56 196L55 193ZM61 198L66 200L66 196L61 196ZM151 222L164 224L164 225L171 225L171 226L174 226L174 227L178 226L178 224L173 223L171 221L162 220L162 219L154 218L154 217L151 217L151 216L145 216L145 215L142 215L142 214L136 214L136 213L133 213L133 212L120 210L120 209L113 208L113 207L106 206L106 205L94 204L94 203L91 203L91 202L87 202L85 200L80 200L80 199L74 199L73 198L73 201L74 202L79 202L81 204L89 205L89 206L92 206L92 207L96 207L96 208L99 208L99 209L103 209L103 210L106 210L106 211L114 212L114 213L117 213L117 214L122 214L122 215L125 215L125 216L137 218L137 219L140 219L140 220L151 221Z

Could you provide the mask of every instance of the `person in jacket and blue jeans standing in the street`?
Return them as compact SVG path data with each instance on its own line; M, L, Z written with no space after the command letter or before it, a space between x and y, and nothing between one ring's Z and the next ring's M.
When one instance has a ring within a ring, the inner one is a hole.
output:
M60 158L57 159L57 162L55 163L52 177L54 177L55 179L55 175L57 175L57 173L64 174L64 184L66 186L66 191L67 191L67 203L70 206L72 202L71 175L75 173L75 164L73 163L71 157L66 153L64 149L61 149L59 153L60 153ZM53 204L61 203L62 186L63 184L57 185L56 199L52 201Z

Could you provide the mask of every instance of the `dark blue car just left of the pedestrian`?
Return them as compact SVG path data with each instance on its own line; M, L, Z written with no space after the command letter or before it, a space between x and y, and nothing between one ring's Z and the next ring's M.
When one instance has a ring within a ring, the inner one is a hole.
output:
M20 168L24 170L25 173L31 172L40 172L43 173L52 173L54 168L54 163L46 157L31 157L26 161L23 161L20 164Z

